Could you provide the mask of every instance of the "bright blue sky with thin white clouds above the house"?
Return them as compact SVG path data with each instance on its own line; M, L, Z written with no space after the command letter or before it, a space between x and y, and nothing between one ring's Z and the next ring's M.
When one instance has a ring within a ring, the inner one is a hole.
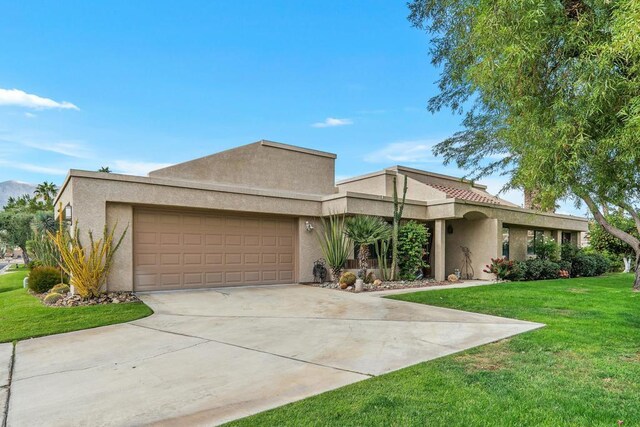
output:
M404 1L2 9L0 182L61 184L70 168L102 166L145 175L261 139L336 153L337 179L396 164L468 173L432 154L462 117L427 111L439 70ZM495 194L505 181L480 183Z

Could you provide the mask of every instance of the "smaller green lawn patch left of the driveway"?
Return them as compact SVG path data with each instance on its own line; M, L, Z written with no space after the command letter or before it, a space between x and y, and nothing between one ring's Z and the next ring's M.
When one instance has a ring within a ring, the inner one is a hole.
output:
M28 271L0 275L0 342L128 322L152 313L143 303L47 307L22 288Z

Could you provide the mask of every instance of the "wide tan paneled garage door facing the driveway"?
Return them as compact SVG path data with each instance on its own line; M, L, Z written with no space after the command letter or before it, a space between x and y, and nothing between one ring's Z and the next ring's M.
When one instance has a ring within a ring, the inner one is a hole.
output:
M295 220L136 209L138 291L292 283Z

